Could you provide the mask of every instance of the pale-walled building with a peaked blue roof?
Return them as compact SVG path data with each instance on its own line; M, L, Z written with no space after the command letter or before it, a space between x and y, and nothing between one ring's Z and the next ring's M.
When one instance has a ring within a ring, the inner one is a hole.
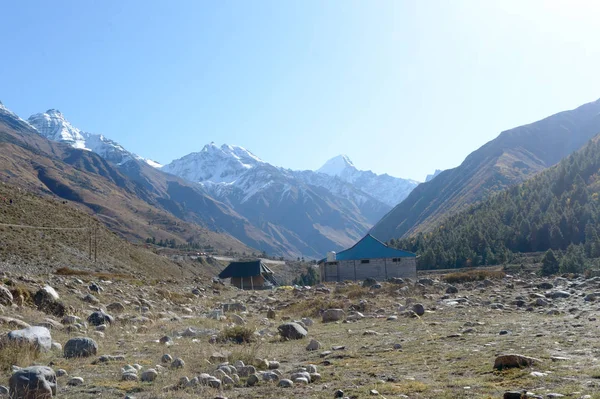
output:
M353 247L319 261L321 281L417 278L416 255L391 248L370 234Z

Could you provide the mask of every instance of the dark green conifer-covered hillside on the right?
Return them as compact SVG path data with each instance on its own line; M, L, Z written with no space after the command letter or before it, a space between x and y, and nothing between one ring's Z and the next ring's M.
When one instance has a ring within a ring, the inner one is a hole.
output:
M600 257L599 170L596 136L531 180L449 217L431 232L390 244L421 255L422 269L498 264L511 253L548 249Z

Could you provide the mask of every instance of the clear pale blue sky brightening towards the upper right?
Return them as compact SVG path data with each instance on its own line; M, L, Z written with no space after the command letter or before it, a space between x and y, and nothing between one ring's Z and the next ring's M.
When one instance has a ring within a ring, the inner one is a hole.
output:
M597 1L7 1L0 100L167 163L211 141L423 180L600 98Z

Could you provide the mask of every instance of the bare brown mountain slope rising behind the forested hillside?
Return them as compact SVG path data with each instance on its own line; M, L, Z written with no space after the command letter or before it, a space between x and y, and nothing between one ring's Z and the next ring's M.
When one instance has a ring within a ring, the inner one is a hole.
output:
M427 231L449 215L556 164L600 132L600 100L502 132L457 168L420 184L371 230L388 241Z

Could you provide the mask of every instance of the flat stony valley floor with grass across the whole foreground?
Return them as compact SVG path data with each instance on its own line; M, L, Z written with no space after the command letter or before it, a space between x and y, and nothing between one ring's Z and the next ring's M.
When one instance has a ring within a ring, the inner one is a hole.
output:
M82 319L110 303L124 305L123 312L113 312L115 322L105 331L84 326L68 333L59 323L52 329L52 339L62 345L75 336L92 337L99 346L96 356L65 359L60 351L50 351L33 360L11 358L6 349L0 350L0 385L8 385L11 361L22 367L33 362L51 365L68 373L58 377L60 398L333 398L338 389L351 398L501 398L504 392L515 390L543 398L559 397L551 394L600 398L600 321L594 302L600 279L596 278L508 276L456 284L458 292L452 294L446 293L449 285L439 276L424 280L425 284L383 283L379 289L345 284L263 292L191 281L154 286L105 281L99 282L104 291L93 293L99 300L96 304L82 301L89 293L88 283L75 277L23 280L13 274L4 280L8 287L31 290L48 283L70 306L70 313ZM552 287L540 286L542 282ZM195 295L192 290L196 287ZM233 328L232 322L241 320L232 313L225 313L224 320L206 317L234 302L247 308L237 312L245 322L243 327ZM420 317L411 310L416 303L425 309ZM355 321L323 323L319 314L327 308L342 308L344 319ZM275 310L274 319L267 318L269 309ZM0 331L14 329L14 323L7 321L10 317L31 325L47 318L60 321L31 306L5 306ZM309 326L305 320L307 337L282 340L277 327L303 317L314 321ZM240 345L211 339L244 328L255 332L255 342ZM172 337L172 345L159 343L164 336ZM319 341L321 348L307 351L311 339ZM538 361L527 368L494 370L495 358L506 353ZM183 359L185 366L172 369L169 363L161 364L164 354ZM123 357L96 363L100 355ZM267 364L265 359L277 361L281 378L315 365L321 378L292 388L262 380L248 387L246 377L221 389L202 385L178 388L183 377L218 375L217 367L225 358L231 364L239 360L254 364L259 373ZM140 375L156 369L158 377L153 382L124 381L121 369L128 364L138 364ZM67 386L75 376L84 383Z

